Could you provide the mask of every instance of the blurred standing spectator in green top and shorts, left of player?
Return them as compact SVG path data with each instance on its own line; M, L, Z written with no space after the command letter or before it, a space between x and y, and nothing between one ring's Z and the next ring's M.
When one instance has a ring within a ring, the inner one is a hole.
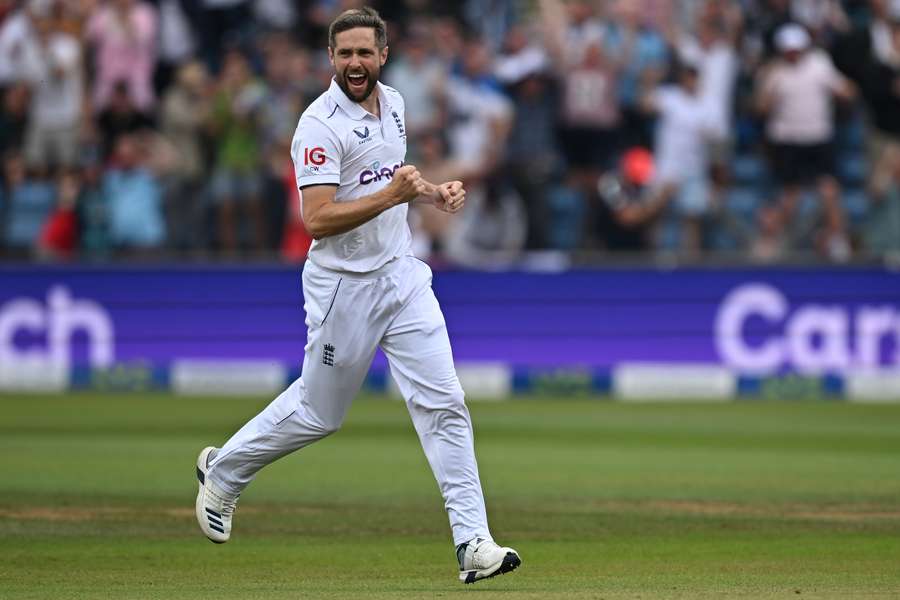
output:
M260 177L259 115L265 87L253 76L247 58L232 49L226 55L213 99L211 126L216 143L210 193L218 211L219 244L238 248L237 212L247 213L256 250L264 247Z

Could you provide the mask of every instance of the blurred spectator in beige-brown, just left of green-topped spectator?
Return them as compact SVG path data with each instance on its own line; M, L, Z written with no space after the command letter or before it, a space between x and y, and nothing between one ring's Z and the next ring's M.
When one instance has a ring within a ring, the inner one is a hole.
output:
M161 132L178 155L163 180L169 240L174 248L197 246L203 230L203 142L209 120L209 77L200 62L182 66L162 101Z

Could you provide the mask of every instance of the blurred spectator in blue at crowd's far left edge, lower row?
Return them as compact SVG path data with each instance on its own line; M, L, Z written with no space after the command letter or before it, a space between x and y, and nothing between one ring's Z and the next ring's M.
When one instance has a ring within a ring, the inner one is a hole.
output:
M53 212L56 191L48 181L30 177L25 159L15 152L3 161L6 247L27 256L37 248L41 228Z

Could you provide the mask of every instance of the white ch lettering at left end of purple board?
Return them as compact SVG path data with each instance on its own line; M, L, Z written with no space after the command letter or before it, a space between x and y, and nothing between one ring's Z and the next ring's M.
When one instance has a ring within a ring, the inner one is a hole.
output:
M87 338L90 367L113 365L112 319L96 302L74 300L63 286L50 288L46 306L31 298L10 300L0 306L0 366L12 370L17 365L45 365L67 371L72 364L71 341L76 332ZM39 341L42 338L45 343Z

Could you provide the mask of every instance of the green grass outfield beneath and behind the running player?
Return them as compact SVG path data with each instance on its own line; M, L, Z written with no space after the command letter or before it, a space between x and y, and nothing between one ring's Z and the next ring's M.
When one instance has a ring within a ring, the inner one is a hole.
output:
M207 542L197 452L263 405L0 397L0 598L900 597L900 406L472 403L524 564L463 586L399 402L358 401Z

